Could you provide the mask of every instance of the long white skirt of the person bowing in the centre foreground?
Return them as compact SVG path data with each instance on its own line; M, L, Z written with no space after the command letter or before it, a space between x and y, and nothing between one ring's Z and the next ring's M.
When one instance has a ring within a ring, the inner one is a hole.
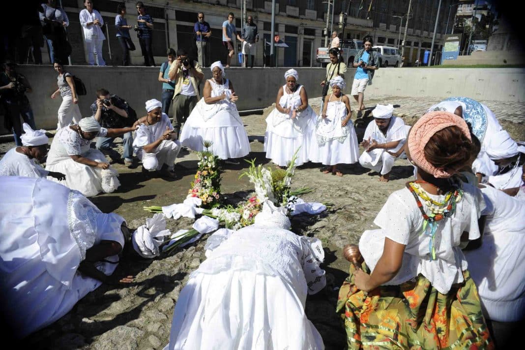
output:
M164 349L323 349L293 287L249 271L193 273Z

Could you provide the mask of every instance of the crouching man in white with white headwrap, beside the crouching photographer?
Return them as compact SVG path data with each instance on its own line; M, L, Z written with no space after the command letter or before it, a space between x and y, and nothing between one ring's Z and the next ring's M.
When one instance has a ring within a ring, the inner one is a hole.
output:
M135 122L138 125L133 140L135 153L142 160L143 170L159 170L162 176L175 178L173 167L181 150L180 142L174 141L176 133L170 119L162 112L161 101L146 101L146 111L148 115Z

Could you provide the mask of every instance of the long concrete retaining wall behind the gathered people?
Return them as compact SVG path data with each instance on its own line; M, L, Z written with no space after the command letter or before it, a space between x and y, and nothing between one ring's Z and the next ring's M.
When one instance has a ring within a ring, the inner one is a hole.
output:
M287 69L228 69L227 77L232 79L239 96L239 110L264 108L274 103L278 88L285 83L284 74ZM308 96L321 96L319 83L324 79L325 69L296 69L299 82L306 87ZM27 76L33 86L33 92L27 95L33 106L37 127L56 128L61 98L50 98L57 88L56 72L50 66L19 66L18 70ZM88 90L88 95L80 96L79 101L83 116L91 115L90 105L95 101L95 91L99 87L128 100L139 116L145 115L146 100L161 99L158 67L73 66L69 71L81 78ZM354 69L348 69L348 92L353 75ZM209 69L205 69L205 78L211 78ZM203 86L201 84L201 89ZM381 68L376 71L373 85L367 87L365 95L443 98L466 96L477 100L523 102L525 68ZM355 105L353 99L351 104ZM2 126L3 122L0 122L0 128ZM6 133L6 130L0 129L0 133Z

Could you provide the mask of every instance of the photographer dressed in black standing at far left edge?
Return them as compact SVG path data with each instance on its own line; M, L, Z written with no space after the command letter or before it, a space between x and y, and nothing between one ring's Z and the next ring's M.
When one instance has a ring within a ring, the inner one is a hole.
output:
M0 102L5 109L4 127L7 130L13 129L16 146L22 146L22 123L20 116L33 129L35 118L33 110L29 104L26 92L31 92L31 86L27 78L16 73L16 63L6 60L3 64L3 72L0 74Z

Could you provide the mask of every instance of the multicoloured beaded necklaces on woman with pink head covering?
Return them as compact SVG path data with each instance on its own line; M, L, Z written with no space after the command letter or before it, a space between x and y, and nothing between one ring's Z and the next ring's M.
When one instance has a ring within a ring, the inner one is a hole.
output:
M434 246L435 234L437 230L437 221L443 220L450 217L456 211L456 203L463 198L463 191L456 188L455 190L445 193L445 200L443 202L437 202L432 198L428 197L428 194L421 188L418 182L423 181L408 181L406 188L412 195L417 203L417 208L423 215L423 232L430 236L430 242L428 242L428 251L430 253L430 260L436 260L436 248ZM423 204L419 200L421 198L428 209L431 211L430 214L425 213Z

